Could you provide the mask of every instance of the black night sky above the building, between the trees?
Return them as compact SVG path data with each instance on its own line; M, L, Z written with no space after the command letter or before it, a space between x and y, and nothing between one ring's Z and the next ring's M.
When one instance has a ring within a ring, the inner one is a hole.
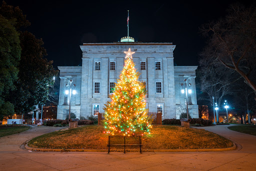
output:
M48 60L56 66L81 65L83 42L113 42L127 35L135 41L172 42L177 65L197 65L205 38L198 27L226 14L236 0L5 0L19 6L42 38ZM252 1L238 0L249 4Z

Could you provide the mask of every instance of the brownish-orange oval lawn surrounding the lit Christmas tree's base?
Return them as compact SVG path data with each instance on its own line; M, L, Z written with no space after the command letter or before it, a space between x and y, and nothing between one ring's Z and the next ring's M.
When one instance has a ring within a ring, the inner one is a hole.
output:
M55 131L35 137L28 146L58 149L107 149L103 126L86 125ZM142 137L143 149L193 149L231 147L230 140L215 133L180 126L153 126L151 134Z

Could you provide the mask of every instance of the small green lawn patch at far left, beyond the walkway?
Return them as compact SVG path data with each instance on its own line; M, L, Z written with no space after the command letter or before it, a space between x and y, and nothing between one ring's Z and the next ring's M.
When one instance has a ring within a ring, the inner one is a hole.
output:
M29 126L0 126L0 137L19 133L29 129Z

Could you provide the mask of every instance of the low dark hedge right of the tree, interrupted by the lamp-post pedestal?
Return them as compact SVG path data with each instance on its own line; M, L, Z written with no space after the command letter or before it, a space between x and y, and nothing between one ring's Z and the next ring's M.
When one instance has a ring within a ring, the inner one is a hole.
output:
M163 119L162 120L163 124L180 124L181 122L179 119ZM210 119L202 119L202 118L191 118L190 119L190 124L202 124L203 126L209 126L212 124L212 121Z

